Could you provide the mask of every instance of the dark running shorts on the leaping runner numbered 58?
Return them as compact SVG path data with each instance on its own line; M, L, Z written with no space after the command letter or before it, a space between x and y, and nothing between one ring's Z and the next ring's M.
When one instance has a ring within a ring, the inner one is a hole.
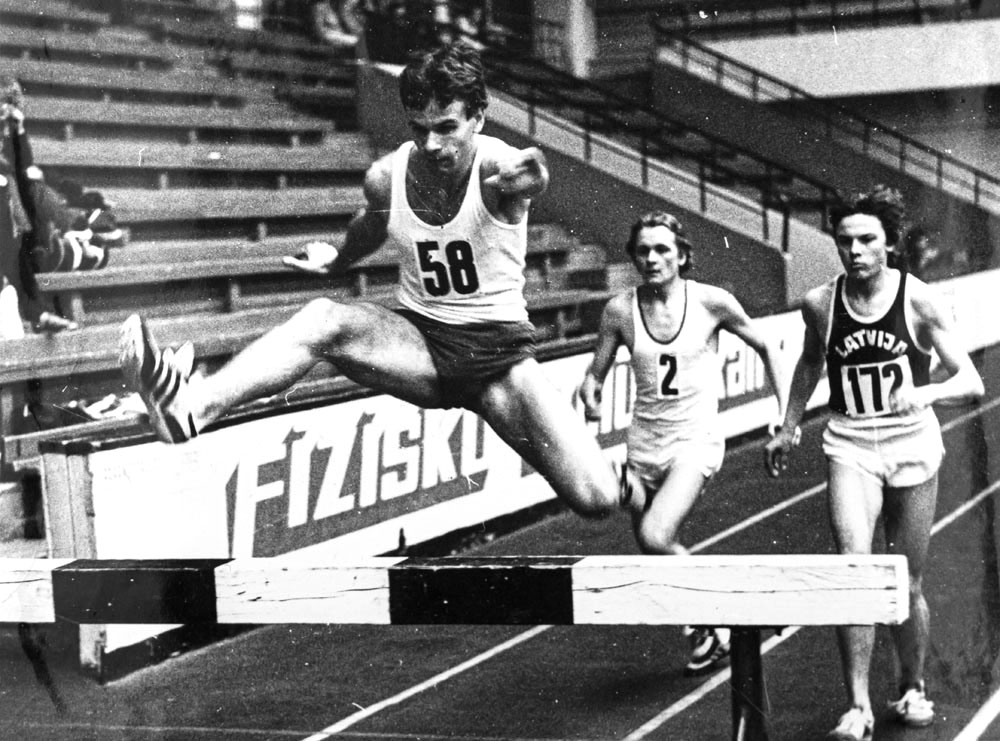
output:
M445 406L467 406L484 383L535 356L531 322L444 324L409 309L396 313L413 324L427 341L437 369Z

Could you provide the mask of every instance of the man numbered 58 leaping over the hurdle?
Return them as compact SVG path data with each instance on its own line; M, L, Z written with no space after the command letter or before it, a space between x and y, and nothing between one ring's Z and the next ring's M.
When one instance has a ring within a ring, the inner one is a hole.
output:
M484 71L464 44L412 61L399 91L412 141L369 169L368 205L339 249L311 242L286 261L328 275L384 245L400 260L401 307L317 299L217 372L194 376L189 343L160 352L132 316L122 328L127 385L159 437L182 442L330 361L376 391L478 413L574 510L604 515L617 506L614 472L534 358L523 270L528 209L549 181L545 156L480 133Z

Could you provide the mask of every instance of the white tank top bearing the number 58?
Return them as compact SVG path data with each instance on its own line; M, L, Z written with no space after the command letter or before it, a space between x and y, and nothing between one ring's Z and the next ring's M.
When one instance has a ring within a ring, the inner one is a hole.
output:
M518 224L495 218L483 203L479 183L484 155L508 145L489 136L477 135L476 140L462 205L441 226L421 221L407 202L406 167L413 142L393 155L386 242L399 255L397 297L405 308L446 324L527 321L527 215Z

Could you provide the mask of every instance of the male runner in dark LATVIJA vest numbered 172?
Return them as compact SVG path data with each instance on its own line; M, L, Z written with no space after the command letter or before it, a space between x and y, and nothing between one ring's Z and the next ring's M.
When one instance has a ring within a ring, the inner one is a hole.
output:
M979 397L983 383L934 292L889 266L904 218L900 194L876 186L842 200L830 217L845 272L804 299L802 355L784 424L767 445L768 463L774 476L784 469L793 430L825 362L832 414L823 450L834 540L840 553L870 553L881 515L887 549L906 556L910 617L892 629L900 697L890 707L900 722L926 726L934 720L934 703L924 683L930 621L922 577L944 452L931 405ZM932 349L946 370L940 382L930 378ZM868 671L875 629L837 632L851 707L831 736L871 738Z

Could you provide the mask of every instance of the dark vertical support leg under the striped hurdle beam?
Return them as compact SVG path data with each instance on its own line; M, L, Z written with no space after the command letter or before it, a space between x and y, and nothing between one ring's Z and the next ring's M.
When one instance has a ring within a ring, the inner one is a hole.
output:
M730 637L733 741L768 741L760 628L734 627Z

